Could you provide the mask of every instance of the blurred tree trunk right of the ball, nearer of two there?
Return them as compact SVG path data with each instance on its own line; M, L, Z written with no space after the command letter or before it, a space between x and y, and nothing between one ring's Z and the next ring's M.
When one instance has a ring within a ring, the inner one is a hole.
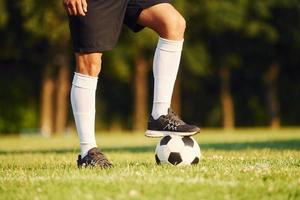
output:
M221 103L223 111L224 129L234 128L234 107L233 99L230 92L230 69L222 67L220 69L221 78Z

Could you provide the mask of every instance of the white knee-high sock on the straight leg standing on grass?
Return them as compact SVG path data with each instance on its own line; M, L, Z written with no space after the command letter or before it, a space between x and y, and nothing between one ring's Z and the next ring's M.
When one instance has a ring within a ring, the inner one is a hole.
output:
M95 139L95 98L97 77L74 74L71 89L71 104L80 140L81 156L97 147Z

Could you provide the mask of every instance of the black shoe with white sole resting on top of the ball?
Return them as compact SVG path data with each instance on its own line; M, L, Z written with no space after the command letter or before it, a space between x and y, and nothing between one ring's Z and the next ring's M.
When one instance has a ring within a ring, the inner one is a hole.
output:
M165 135L191 136L200 131L200 128L194 125L186 124L182 121L171 108L167 115L160 116L157 120L150 117L148 129L145 132L147 137L163 137Z

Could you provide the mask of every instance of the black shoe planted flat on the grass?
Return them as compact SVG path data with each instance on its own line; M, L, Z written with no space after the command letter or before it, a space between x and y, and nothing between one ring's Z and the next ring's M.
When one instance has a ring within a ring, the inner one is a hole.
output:
M98 148L94 147L88 151L88 154L84 158L81 158L81 155L78 155L77 166L78 168L100 167L104 169L110 168L113 165Z

